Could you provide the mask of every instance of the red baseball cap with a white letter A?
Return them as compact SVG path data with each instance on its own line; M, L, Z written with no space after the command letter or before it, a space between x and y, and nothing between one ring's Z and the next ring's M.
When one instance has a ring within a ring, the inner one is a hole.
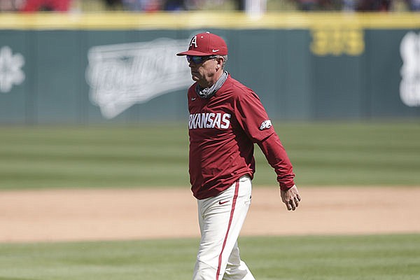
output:
M193 36L188 50L179 52L176 55L228 55L228 46L223 38L210 32L205 32Z

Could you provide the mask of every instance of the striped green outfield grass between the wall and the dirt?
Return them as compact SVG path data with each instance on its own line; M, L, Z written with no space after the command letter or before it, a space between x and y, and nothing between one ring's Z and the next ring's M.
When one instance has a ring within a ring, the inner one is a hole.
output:
M301 186L419 186L420 123L275 123ZM186 125L0 127L0 189L187 187ZM255 148L255 184L276 184Z

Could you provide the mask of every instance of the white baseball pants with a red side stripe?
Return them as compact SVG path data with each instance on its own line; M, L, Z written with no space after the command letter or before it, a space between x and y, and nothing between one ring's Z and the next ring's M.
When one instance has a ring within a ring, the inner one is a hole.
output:
M193 280L255 280L237 245L251 188L251 179L243 176L220 195L197 200L202 237Z

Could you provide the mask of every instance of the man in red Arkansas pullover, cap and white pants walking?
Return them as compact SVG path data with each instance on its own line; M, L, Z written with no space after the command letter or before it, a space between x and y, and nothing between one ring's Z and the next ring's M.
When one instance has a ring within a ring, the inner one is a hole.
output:
M201 232L194 280L253 280L237 239L251 204L253 144L277 174L288 210L300 202L292 165L258 96L224 70L223 38L200 33L186 55L195 83L188 89L190 183Z

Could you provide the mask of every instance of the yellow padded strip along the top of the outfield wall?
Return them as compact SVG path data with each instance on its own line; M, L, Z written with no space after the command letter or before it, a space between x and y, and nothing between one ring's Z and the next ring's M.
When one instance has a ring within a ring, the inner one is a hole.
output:
M419 13L1 13L0 29L420 29Z

